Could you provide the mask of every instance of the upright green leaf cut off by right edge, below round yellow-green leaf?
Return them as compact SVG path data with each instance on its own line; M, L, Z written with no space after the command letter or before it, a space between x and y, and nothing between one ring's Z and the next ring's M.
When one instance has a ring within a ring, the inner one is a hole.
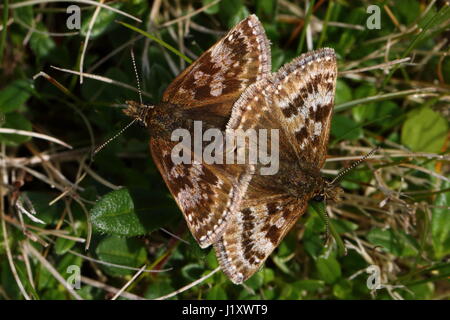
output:
M450 183L446 182L442 185L442 189L450 187ZM442 208L433 208L431 217L431 235L433 238L433 248L436 259L440 260L444 256L450 254L450 192L440 193L435 200L435 206Z

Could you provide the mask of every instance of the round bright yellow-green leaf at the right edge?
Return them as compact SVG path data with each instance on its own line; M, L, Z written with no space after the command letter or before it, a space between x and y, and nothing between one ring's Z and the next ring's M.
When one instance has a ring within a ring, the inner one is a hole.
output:
M448 134L448 122L428 107L408 114L402 127L402 143L416 152L438 153Z

